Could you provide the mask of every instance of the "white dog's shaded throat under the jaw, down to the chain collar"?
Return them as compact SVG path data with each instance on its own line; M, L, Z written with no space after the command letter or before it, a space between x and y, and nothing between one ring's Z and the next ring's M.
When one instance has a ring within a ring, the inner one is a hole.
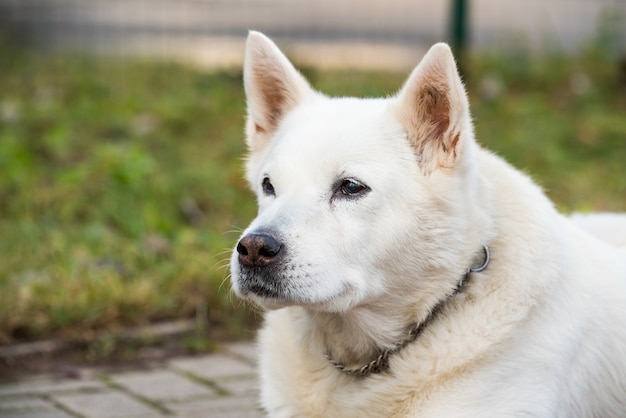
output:
M318 332L325 337L322 341L326 341L324 356L328 362L342 373L353 376L364 377L386 370L389 358L417 340L436 321L446 305L464 290L470 275L487 268L490 262L487 246L483 246L483 252L482 264L468 268L455 288L433 304L426 305L420 312L420 320L406 320L404 315L394 315L388 310L388 301L384 311L370 305L343 315L318 313L316 319L324 324L318 327ZM388 326L371 326L372 321L380 324L381 320L385 320ZM340 335L341 338L332 340L328 335Z

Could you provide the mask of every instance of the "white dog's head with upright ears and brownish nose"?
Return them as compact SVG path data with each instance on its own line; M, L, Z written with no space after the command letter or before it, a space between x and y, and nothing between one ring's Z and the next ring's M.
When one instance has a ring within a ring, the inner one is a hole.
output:
M328 98L251 32L244 83L259 212L231 259L239 296L342 312L390 291L428 293L438 284L426 278L463 271L451 253L478 247L464 242L474 143L447 45L395 97Z

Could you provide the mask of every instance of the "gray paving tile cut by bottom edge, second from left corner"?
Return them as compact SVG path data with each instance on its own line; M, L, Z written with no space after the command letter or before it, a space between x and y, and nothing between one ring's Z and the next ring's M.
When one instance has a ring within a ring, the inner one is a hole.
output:
M155 409L119 392L54 395L52 398L69 410L90 418L159 415Z

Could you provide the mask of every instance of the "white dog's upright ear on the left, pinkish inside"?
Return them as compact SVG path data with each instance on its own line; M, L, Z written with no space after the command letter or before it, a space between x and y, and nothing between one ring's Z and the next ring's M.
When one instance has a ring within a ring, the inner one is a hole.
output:
M313 90L278 47L260 32L246 41L243 67L248 106L246 142L251 151L262 148L281 119Z

